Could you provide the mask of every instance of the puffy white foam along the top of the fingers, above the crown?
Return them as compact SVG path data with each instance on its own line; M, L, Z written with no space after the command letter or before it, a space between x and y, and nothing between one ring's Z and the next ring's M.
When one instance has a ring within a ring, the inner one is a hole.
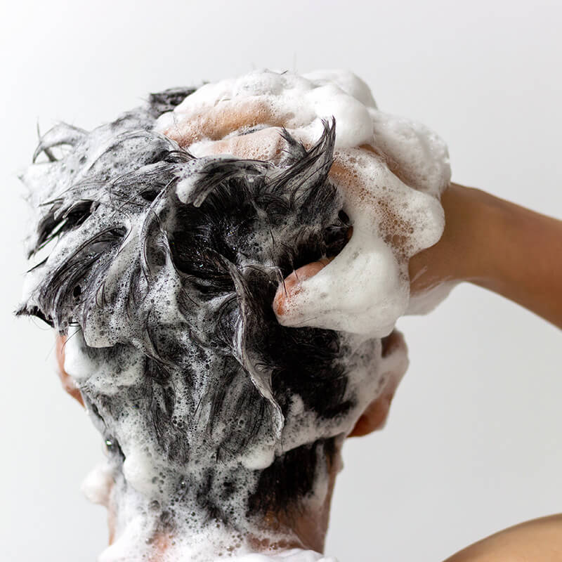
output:
M311 142L318 140L322 133L322 119L334 117L338 123L336 147L351 148L372 140L372 106L374 100L365 83L351 72L315 72L307 77L291 72L256 71L205 84L173 112L159 117L155 129L169 133L185 131L186 124L200 124L205 111L239 107L242 112L255 112L258 119L263 116L260 125L282 122L290 131L298 132L300 138ZM206 132L211 131L197 131L195 142L185 148L195 156L202 155L197 143L205 140ZM228 131L228 134L235 132ZM222 137L215 136L212 140L219 138Z

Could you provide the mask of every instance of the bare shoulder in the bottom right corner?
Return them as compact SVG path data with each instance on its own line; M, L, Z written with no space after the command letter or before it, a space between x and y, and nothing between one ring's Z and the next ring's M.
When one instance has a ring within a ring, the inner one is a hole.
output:
M525 521L457 552L445 562L562 562L562 514Z

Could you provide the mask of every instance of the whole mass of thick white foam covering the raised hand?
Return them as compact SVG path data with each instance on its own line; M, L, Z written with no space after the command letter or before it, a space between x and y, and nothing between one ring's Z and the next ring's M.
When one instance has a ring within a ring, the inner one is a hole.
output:
M225 136L220 126L202 119L221 107L231 116L247 116L240 124L233 119ZM379 111L365 82L341 70L303 76L252 72L206 84L162 115L157 129L205 155L216 141L246 132L247 119L254 119L254 130L282 125L310 144L331 117L340 169L332 181L341 188L353 235L332 263L299 285L278 319L285 326L382 337L408 309L410 257L435 244L445 226L439 197L450 181L450 166L446 145L435 133ZM247 150L253 152L251 145Z

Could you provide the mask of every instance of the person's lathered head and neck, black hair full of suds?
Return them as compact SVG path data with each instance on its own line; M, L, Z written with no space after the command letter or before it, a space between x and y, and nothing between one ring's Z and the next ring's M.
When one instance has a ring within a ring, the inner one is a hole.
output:
M271 306L283 277L348 243L334 125L308 148L286 134L277 161L195 158L155 131L188 93L41 138L18 313L55 329L103 436L86 486L110 514L101 560L316 560L343 437L398 383L405 346L287 328Z

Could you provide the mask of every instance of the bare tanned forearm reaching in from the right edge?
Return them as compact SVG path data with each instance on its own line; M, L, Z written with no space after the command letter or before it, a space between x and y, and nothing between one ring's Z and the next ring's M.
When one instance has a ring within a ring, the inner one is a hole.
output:
M456 184L442 203L445 232L412 258L412 291L469 281L562 328L562 221Z

